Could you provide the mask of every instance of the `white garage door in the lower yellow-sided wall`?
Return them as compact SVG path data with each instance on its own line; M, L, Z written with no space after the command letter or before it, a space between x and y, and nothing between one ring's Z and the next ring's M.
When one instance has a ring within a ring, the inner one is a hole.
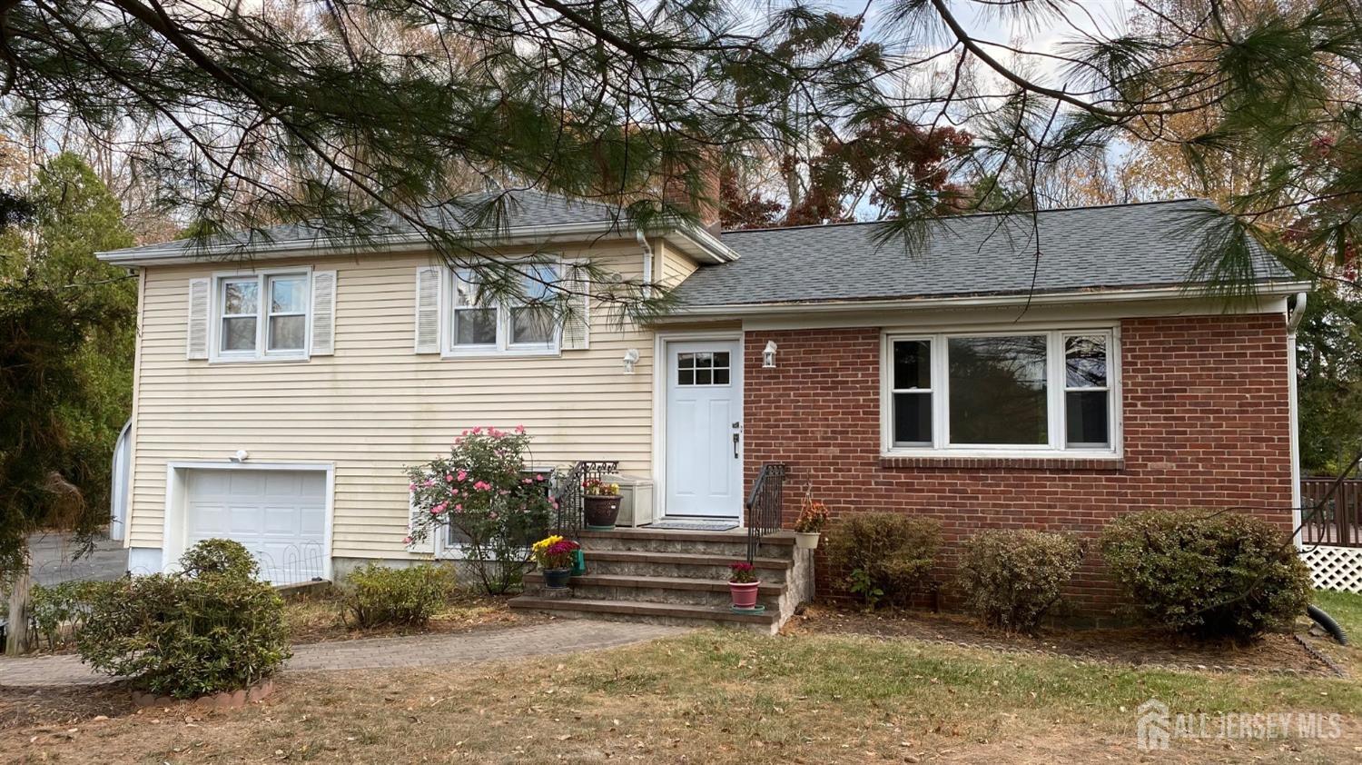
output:
M276 585L323 574L326 491L323 470L189 470L185 539L240 541Z

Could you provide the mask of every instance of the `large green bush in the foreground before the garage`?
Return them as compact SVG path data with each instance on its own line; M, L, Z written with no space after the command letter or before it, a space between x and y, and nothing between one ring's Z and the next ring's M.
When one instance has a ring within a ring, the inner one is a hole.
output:
M204 554L202 545L191 554ZM181 559L187 570L191 554ZM236 569L210 571L112 582L76 633L80 657L138 690L173 698L271 676L290 656L283 600L266 582L230 575Z

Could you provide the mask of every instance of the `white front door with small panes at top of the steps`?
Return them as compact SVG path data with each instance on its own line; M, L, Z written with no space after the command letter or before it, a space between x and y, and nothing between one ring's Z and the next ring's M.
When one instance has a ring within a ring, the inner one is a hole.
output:
M667 517L742 517L742 344L666 344Z

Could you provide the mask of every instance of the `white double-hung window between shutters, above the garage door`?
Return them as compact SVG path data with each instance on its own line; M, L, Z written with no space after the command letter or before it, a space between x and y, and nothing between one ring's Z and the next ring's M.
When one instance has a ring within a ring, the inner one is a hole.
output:
M308 271L217 278L218 360L308 355Z

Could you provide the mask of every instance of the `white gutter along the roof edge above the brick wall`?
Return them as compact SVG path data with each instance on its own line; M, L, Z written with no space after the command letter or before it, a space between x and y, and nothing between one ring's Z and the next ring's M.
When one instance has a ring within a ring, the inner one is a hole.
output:
M1310 282L1267 284L1260 295L1291 295L1309 289ZM1184 286L1158 286L1137 289L1073 290L1046 295L982 295L968 297L910 297L888 300L824 300L817 303L727 303L722 305L682 305L671 316L659 320L685 320L692 316L742 316L742 315L789 315L789 314L832 314L844 311L913 310L913 308L987 308L996 305L1050 305L1083 303L1115 303L1128 300L1160 300L1194 297Z

